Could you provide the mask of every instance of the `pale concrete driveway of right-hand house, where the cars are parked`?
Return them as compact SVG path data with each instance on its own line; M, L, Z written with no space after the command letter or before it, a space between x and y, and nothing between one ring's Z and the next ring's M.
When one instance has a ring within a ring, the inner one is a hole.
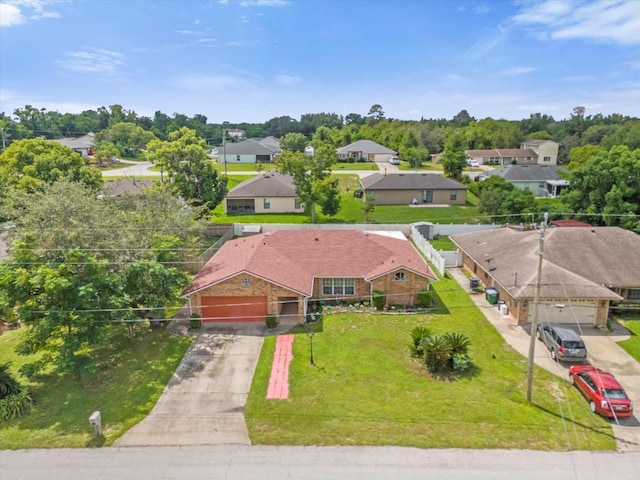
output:
M462 288L469 291L469 279L461 269L450 268L448 272ZM528 357L531 339L529 325L519 326L511 317L503 316L495 306L489 305L483 294L470 293L470 297L505 341L516 352ZM613 373L633 401L634 417L619 419L617 422L611 420L618 450L640 452L640 422L637 419L640 415L640 364L616 343L629 338L627 329L617 323L612 328L612 333L604 333L593 326L583 325L578 333L587 346L588 363ZM533 360L536 365L554 375L564 380L569 379L571 364L553 361L549 351L537 340Z

